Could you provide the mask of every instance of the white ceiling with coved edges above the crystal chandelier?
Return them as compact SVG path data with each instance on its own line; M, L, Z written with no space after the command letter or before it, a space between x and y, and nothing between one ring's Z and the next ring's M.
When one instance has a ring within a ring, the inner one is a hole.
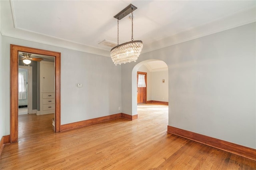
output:
M113 17L130 3L134 40L142 53L256 21L256 1L10 0L0 2L1 34L110 57L117 42ZM131 40L131 20L119 22L119 42Z

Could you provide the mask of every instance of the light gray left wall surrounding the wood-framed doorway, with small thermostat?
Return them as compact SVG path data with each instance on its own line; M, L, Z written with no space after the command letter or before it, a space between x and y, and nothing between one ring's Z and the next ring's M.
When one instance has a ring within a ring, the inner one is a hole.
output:
M10 44L61 52L61 125L121 113L121 66L110 57L2 36L3 135L10 134Z

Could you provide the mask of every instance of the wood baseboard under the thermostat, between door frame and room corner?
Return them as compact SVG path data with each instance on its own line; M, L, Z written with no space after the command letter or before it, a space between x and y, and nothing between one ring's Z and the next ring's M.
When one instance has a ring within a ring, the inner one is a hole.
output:
M104 116L104 117L98 117L98 118L94 118L94 119L89 119L89 120L85 120L85 121L79 121L79 122L74 122L74 123L68 123L65 125L60 125L60 131L66 131L66 130L71 130L71 129L75 129L75 128L80 128L80 127L86 127L89 125L94 125L97 123L101 123L101 122L105 122L105 121L110 121L113 119L118 119L121 117L121 113L117 113L114 115L109 115L109 116Z

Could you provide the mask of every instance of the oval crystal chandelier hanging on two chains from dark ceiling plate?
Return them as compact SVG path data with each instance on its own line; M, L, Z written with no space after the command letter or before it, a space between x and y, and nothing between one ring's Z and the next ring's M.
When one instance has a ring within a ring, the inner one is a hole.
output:
M110 50L110 55L112 61L115 65L127 63L138 59L140 55L141 49L143 47L141 40L133 40L133 11L136 10L137 7L130 4L126 8L124 8L121 12L116 14L114 18L117 19L117 45ZM132 39L130 42L122 43L119 45L119 20L132 13Z

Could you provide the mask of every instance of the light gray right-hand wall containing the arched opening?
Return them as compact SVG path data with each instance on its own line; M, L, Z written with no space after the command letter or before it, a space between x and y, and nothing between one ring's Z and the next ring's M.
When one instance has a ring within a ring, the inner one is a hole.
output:
M140 62L162 60L169 72L168 125L256 148L255 28L254 22L122 65L122 113L137 114Z

